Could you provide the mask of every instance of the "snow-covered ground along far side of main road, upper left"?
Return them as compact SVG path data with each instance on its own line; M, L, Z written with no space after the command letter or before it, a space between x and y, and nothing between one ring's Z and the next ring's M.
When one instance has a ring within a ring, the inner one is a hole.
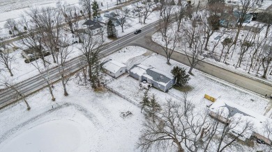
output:
M112 12L115 12L115 10L112 10ZM102 14L102 16L104 16L104 14ZM108 19L107 17L104 17L102 22L107 22L107 19ZM119 37L121 37L123 35L127 35L128 33L132 33L136 29L140 29L144 26L147 26L148 24L156 22L158 19L159 18L158 18L157 12L151 13L151 15L146 19L146 24L139 23L139 19L137 17L134 19L129 18L128 24L124 27L124 32L121 31L121 26L116 26L116 31L118 31ZM85 22L84 20L79 22L80 28L84 28L84 26L82 26L84 22ZM104 43L112 42L112 40L109 40L106 35L107 33L105 29ZM69 38L66 36L66 39L69 39ZM13 46L22 48L22 42L20 41L13 42ZM68 56L68 60L75 58L77 56L80 56L82 54L82 52L80 51L81 48L82 47L80 46L80 44L71 45L69 49L72 51L70 55ZM25 59L22 58L21 52L22 52L22 49L17 49L13 53L10 53L10 55L13 56L13 59L15 60L15 62L11 64L14 76L10 77L10 74L8 73L8 71L1 71L0 78L8 78L10 81L13 81L13 83L19 83L26 80L27 78L31 78L39 74L38 69L36 69L36 67L33 66L33 64L24 62ZM53 62L52 56L47 56L45 58L48 62L50 62L50 67L56 67L56 63Z

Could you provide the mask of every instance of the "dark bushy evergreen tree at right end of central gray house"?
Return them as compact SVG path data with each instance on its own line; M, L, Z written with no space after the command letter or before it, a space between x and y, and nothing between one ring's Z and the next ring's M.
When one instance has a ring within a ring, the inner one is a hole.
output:
M189 75L186 74L186 70L183 67L175 66L171 73L176 78L176 85L179 87L185 85L190 80Z

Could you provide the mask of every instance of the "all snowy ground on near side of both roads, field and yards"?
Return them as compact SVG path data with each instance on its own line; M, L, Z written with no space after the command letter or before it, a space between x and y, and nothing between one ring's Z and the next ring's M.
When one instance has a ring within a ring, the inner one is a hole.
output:
M188 69L173 60L171 66L167 65L164 57L140 47L123 48L107 56L109 58L123 62L128 68L142 63L165 72L175 65ZM218 101L231 100L259 115L271 115L271 110L265 112L269 106L266 99L222 84L200 71L193 73L195 76L191 76L186 88L197 110L211 105L211 101L204 99L204 94L209 94ZM78 85L78 80L76 74L68 83L69 96L63 96L61 83L54 85L55 102L45 89L27 98L30 111L22 101L1 109L0 151L139 151L135 145L144 121L140 108L111 92L93 92L89 86ZM139 90L139 81L128 74L108 86L135 103L139 103L144 94L144 90ZM159 103L167 99L179 101L176 96L182 96L182 92L174 88L169 93L151 88L149 93L156 94ZM127 111L132 115L121 117L121 112ZM15 144L17 146L13 146Z

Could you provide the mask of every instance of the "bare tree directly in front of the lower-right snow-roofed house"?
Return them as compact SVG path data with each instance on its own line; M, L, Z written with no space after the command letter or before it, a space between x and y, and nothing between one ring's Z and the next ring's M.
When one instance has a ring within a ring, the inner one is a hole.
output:
M241 117L226 116L224 110L211 112L211 114L213 119L209 121L209 127L206 128L204 151L213 149L213 151L222 152L229 146L235 146L239 149L239 138L252 133L253 125L250 121L243 120Z

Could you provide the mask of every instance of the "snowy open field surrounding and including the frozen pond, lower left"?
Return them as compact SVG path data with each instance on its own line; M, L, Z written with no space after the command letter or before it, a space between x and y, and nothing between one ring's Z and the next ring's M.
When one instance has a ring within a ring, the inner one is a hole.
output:
M67 97L56 85L56 102L43 90L27 99L30 111L22 102L0 110L0 151L137 151L144 120L139 108L76 81L68 84ZM133 115L120 116L127 111Z

